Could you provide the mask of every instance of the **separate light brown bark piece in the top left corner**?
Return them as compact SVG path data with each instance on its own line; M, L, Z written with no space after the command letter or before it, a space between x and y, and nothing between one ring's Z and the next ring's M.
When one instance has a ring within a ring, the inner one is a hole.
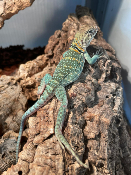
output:
M4 20L10 19L20 10L32 5L34 0L2 0L0 1L0 28L4 25Z

